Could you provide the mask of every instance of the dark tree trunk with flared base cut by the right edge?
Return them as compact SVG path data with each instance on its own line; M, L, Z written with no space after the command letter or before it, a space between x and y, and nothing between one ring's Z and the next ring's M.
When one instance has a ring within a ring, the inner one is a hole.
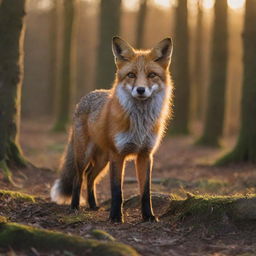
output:
M256 0L246 1L243 48L244 78L241 102L241 128L234 150L217 164L256 163Z

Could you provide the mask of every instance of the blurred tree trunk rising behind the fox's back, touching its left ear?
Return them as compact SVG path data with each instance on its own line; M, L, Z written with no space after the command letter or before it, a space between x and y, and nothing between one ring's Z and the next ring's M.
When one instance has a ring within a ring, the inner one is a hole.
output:
M114 80L115 65L111 41L113 36L119 34L120 14L121 0L101 0L96 88L110 88Z

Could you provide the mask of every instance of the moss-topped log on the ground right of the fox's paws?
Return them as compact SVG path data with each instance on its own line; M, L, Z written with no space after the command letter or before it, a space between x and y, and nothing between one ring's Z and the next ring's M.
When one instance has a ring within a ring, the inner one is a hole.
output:
M246 205L246 206L245 206ZM196 196L188 194L185 200L173 200L162 217L172 221L192 218L196 222L221 221L225 217L234 220L256 220L256 195ZM246 208L247 207L247 208Z

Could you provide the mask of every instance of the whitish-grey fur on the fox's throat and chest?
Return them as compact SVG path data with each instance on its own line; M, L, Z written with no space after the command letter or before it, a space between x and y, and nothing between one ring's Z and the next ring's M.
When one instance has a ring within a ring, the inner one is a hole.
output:
M141 101L132 98L120 86L117 88L117 96L131 122L128 131L116 134L114 139L117 150L136 153L154 148L160 136L153 132L153 128L161 114L165 92Z

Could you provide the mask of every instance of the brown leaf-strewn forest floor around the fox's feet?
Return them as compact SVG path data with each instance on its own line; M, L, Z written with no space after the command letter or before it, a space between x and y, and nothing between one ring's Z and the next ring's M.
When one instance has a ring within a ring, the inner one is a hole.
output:
M125 223L112 224L108 221L108 174L97 185L101 205L97 212L89 211L86 207L82 207L79 212L70 212L67 205L50 202L50 187L58 176L56 170L67 141L66 133L56 134L50 129L51 122L47 119L26 120L22 124L21 144L24 153L35 166L43 168L15 170L14 180L20 187L10 186L0 179L2 190L16 190L35 196L35 201L20 200L0 192L0 215L8 221L76 234L85 239L93 238L92 230L103 230L145 256L256 255L255 206L255 211L249 212L246 217L233 218L230 211L222 212L221 217L219 211L215 214L216 207L219 207L219 204L215 205L215 198L224 201L227 199L225 196L251 198L256 193L256 166L211 166L228 148L195 146L194 138L191 137L166 138L155 156L153 170L153 206L160 221L143 223L135 198L125 203ZM127 200L136 194L138 186L134 166L129 163L125 174L124 197ZM199 198L200 202L210 198L214 203L207 204L201 210L187 210L182 215L180 211L184 210L184 205L177 211L171 209L172 201L180 204L191 198ZM243 206L242 210L246 207ZM8 250L0 250L0 254L7 251L11 252L9 255L27 255L22 250L12 250L11 246ZM29 255L64 254L43 254L31 248ZM65 255L76 254L70 252Z

